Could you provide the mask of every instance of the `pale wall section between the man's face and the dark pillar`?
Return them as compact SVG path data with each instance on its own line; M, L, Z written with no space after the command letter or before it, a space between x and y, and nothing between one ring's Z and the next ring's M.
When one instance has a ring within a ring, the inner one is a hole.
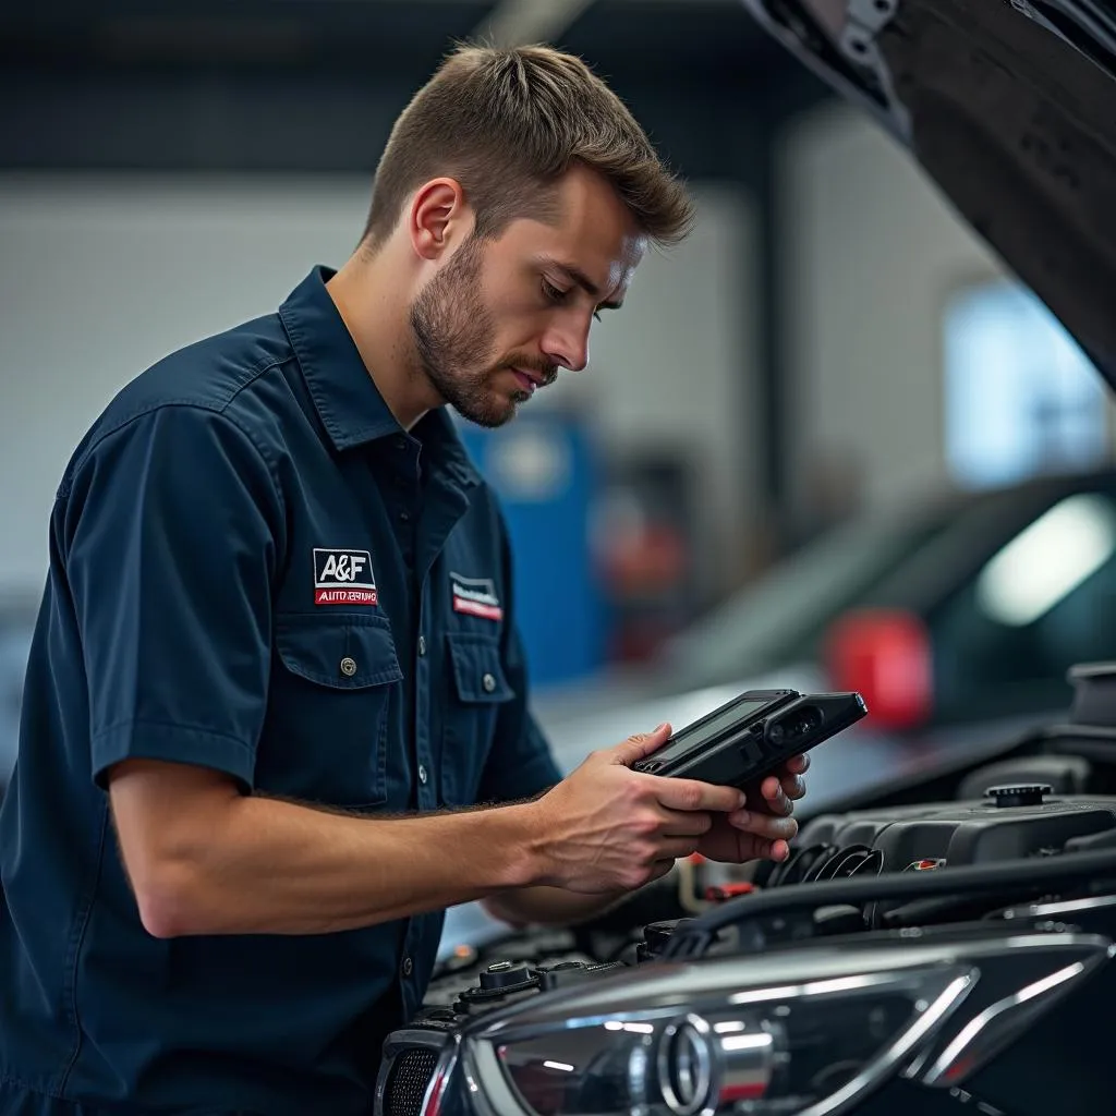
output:
M583 376L554 401L581 400L619 450L676 449L694 465L709 584L740 578L759 500L753 213L739 192L698 185L698 223L639 266L618 314L590 337Z

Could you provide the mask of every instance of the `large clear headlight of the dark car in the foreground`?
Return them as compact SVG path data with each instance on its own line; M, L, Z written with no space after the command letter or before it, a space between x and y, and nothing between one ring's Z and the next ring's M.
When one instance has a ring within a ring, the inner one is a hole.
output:
M972 980L935 968L810 981L509 1035L489 1051L536 1116L712 1116L742 1100L756 1116L820 1113L906 1054Z

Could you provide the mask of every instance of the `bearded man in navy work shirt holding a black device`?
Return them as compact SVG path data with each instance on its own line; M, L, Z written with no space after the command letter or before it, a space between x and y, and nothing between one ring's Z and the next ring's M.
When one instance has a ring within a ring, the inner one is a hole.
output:
M580 60L462 47L340 270L86 434L0 811L0 1113L366 1113L446 906L565 924L695 850L787 855L804 758L748 807L629 770L666 725L561 778L444 410L584 368L691 217Z

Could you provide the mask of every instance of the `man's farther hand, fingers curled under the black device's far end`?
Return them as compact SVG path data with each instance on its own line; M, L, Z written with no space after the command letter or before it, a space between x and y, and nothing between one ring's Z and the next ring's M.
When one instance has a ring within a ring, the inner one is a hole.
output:
M776 775L767 776L757 788L759 801L742 809L718 815L698 845L698 853L710 860L744 864L747 860L786 860L788 841L798 833L791 817L795 801L806 793L802 776L810 766L809 756L795 756Z

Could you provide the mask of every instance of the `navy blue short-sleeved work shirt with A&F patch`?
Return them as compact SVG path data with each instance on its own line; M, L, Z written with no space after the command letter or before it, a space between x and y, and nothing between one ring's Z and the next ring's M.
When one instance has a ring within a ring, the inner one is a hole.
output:
M443 411L401 429L330 275L133 381L58 490L0 810L0 1098L365 1113L382 1038L430 978L441 913L151 936L112 764L201 764L372 816L560 778L527 709L497 501Z

